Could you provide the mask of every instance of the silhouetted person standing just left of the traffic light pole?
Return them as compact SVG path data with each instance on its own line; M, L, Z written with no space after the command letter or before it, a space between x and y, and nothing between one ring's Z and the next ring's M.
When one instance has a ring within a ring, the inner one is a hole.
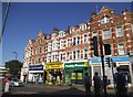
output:
M94 94L95 94L95 97L100 97L101 78L100 78L98 72L94 73L93 80L94 80Z

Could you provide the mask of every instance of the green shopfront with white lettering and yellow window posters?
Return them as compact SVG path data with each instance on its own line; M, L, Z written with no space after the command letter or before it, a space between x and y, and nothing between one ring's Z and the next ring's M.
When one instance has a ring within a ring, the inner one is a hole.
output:
M64 84L83 84L84 73L89 73L86 62L64 63Z

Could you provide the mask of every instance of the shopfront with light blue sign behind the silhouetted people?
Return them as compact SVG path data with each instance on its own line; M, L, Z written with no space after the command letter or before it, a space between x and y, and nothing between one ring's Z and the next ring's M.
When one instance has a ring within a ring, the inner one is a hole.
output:
M104 58L104 68L105 68L105 76L108 76L109 83L113 83L113 73L116 73L116 67L120 66L122 68L122 72L126 75L127 83L131 83L132 79L132 65L130 63L129 56L111 56L111 67L106 64ZM113 66L112 72L112 63L115 63L115 66ZM95 72L99 73L99 75L102 78L102 64L101 64L101 57L93 57L91 58L91 68L92 68L92 76Z

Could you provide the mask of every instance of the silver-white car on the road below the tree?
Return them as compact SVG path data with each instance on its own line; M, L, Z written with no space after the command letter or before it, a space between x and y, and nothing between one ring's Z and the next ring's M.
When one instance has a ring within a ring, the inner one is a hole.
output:
M23 85L24 84L19 78L10 78L9 79L9 86L12 86L12 87L17 86L17 87L19 87L19 86L23 86Z

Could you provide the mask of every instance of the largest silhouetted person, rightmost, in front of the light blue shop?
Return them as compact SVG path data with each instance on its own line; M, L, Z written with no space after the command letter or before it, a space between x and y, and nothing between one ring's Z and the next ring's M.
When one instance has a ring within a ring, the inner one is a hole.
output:
M114 83L116 86L116 96L117 97L127 97L127 80L125 78L125 75L121 72L121 68L116 68L117 73L114 74Z

